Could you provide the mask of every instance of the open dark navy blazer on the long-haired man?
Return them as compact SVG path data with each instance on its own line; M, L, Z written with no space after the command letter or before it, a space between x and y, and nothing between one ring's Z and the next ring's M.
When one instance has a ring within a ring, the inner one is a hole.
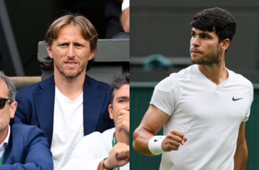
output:
M51 147L55 103L54 75L18 90L15 100L18 103L15 117L25 124L41 128ZM83 93L84 135L95 131L102 133L114 127L114 121L108 112L109 104L110 85L86 75Z

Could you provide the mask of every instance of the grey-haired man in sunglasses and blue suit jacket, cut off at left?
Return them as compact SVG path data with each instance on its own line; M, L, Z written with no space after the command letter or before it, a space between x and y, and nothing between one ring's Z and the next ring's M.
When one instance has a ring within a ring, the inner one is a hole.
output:
M0 71L0 170L53 170L45 133L13 119L15 93L14 84Z

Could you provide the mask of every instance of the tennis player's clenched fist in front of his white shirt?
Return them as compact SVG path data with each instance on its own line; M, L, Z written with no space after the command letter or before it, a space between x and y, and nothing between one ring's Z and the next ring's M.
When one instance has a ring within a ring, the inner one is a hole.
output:
M162 149L166 152L172 151L172 150L178 150L180 145L183 145L187 141L187 138L184 136L184 133L179 130L172 130L170 131L163 143L162 143Z

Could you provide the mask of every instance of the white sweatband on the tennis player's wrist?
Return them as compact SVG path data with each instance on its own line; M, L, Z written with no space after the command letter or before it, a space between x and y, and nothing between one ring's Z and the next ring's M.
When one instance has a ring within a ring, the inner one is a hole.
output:
M148 149L153 155L160 155L165 151L162 149L162 143L165 136L153 136L148 142Z

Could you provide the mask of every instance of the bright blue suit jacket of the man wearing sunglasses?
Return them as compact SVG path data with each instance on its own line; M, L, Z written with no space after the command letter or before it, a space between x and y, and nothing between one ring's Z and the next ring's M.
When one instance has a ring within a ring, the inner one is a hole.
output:
M19 119L18 119L19 120ZM36 126L10 122L10 136L0 170L53 170L45 133Z

